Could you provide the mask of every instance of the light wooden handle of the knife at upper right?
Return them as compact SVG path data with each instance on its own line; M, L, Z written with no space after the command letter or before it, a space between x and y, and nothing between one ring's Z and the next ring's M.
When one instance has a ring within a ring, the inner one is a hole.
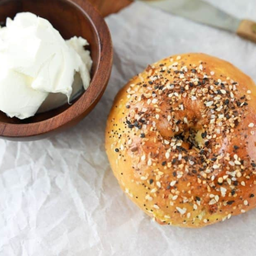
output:
M250 20L242 20L236 34L256 43L256 23Z

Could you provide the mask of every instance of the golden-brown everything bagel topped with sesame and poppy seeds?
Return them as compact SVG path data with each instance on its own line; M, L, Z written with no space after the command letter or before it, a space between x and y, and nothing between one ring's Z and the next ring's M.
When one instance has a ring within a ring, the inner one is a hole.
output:
M106 152L120 186L160 224L202 227L256 205L256 87L205 54L149 66L117 95Z

